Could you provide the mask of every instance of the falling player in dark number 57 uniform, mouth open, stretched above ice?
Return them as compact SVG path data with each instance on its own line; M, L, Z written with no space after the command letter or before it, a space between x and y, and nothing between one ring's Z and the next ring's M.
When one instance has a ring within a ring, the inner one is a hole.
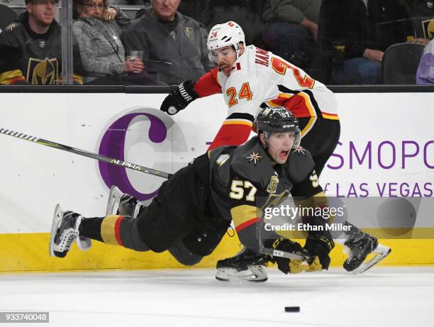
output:
M312 157L299 146L300 130L294 115L284 108L262 109L257 126L259 135L244 145L213 149L176 172L162 184L150 206L140 207L137 218L133 214L135 201L127 194L121 195L118 211L122 212L104 217L84 218L57 206L50 254L65 257L74 240L84 249L94 239L138 251L169 250L179 262L194 265L213 252L230 221L245 247L260 251L262 243L256 233L262 228L262 212L275 194L280 194L279 202L289 194L311 199L313 206L326 206L327 202L321 196L323 189ZM128 207L128 202L134 205ZM328 223L326 217L306 220L312 225ZM328 269L328 253L333 248L330 232L309 232L304 248L274 232L264 233L263 244L304 259L267 257L285 273ZM264 262L258 263L249 280L265 281Z

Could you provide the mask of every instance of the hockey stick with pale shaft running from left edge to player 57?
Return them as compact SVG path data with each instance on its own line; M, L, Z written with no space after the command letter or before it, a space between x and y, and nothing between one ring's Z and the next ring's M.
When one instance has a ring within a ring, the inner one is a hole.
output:
M133 163L126 162L123 160L112 159L112 158L106 157L104 155L97 155L96 153L91 153L91 152L86 151L86 150L80 150L80 149L72 148L68 145L55 143L55 142L52 142L50 140L44 140L43 138L36 138L35 136L30 136L30 135L20 133L20 132L14 132L14 131L11 131L11 130L6 129L6 128L0 128L0 133L4 134L4 135L13 136L14 138L20 138L21 140L28 140L30 142L38 143L40 145L46 145L46 146L49 146L51 148L56 148L59 150L70 152L70 153L75 153L76 155L83 155L84 157L91 157L92 159L104 161L104 162L107 162L111 165L129 168L130 170L135 170L137 172L145 172L146 174L152 174L154 176L159 176L159 177L163 177L163 178L169 178L172 176L172 174L169 174L168 172L161 172L160 170L153 170L151 168L143 167L140 165L135 165Z

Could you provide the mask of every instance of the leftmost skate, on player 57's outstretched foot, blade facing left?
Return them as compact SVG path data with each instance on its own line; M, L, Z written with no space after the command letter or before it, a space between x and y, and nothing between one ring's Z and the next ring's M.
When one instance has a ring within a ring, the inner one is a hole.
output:
M65 257L74 240L80 250L88 250L91 247L89 238L79 238L79 226L83 217L72 211L63 211L57 204L52 218L50 235L50 255L52 257Z

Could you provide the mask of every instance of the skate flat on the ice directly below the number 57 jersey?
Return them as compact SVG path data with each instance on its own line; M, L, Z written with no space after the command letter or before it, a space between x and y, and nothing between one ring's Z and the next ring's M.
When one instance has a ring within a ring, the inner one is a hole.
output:
M265 282L268 279L265 255L257 255L244 248L234 257L218 260L216 279L223 282L248 281Z

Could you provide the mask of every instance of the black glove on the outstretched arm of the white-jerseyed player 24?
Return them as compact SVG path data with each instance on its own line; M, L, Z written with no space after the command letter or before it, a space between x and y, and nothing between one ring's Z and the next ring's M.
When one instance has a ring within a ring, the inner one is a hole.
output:
M184 81L166 96L162 102L160 110L167 112L169 115L174 115L178 111L185 109L191 101L199 98L199 95L194 91L194 82Z

